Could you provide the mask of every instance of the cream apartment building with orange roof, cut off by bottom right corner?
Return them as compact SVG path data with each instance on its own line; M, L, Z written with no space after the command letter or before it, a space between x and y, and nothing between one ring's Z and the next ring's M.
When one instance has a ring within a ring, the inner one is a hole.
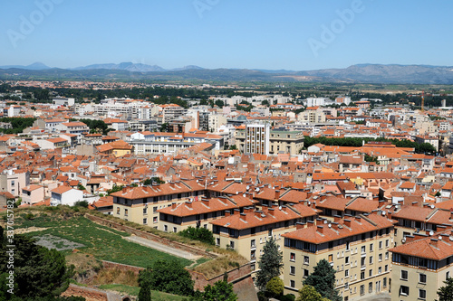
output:
M453 232L415 233L392 253L391 300L435 300L443 281L453 276Z

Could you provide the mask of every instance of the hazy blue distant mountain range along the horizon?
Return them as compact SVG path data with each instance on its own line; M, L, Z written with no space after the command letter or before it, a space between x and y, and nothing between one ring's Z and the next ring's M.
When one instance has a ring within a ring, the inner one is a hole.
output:
M343 69L315 71L204 69L186 66L166 70L157 65L121 62L72 69L50 68L41 62L28 66L0 66L2 80L205 80L267 82L364 82L453 84L453 67L429 65L357 64Z

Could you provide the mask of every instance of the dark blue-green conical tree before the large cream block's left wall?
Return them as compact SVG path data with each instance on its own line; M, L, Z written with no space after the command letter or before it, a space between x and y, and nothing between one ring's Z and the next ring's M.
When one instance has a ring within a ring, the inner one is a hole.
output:
M314 267L313 273L304 280L304 286L306 285L314 287L321 296L330 300L342 300L335 289L335 270L326 259L319 261Z

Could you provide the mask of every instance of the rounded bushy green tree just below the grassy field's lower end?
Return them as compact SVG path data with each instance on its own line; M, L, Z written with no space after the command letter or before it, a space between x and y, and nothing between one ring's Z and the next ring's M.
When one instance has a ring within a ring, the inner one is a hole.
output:
M179 261L158 260L151 268L140 271L139 282L148 282L152 290L179 296L192 296L194 281Z

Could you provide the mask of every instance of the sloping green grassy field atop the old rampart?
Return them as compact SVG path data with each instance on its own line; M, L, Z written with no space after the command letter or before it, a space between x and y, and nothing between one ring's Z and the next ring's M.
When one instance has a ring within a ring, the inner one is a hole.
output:
M17 228L40 227L46 230L26 233L32 237L44 237L49 234L65 240L81 243L78 248L82 253L94 256L96 259L109 260L122 264L146 268L158 259L177 260L183 266L188 266L192 261L180 259L155 249L140 246L139 244L123 240L128 233L112 230L98 225L82 216L58 219L54 214L40 212L33 220L27 220L25 214L19 214L15 219ZM60 247L64 247L61 246ZM63 250L69 254L72 250Z

